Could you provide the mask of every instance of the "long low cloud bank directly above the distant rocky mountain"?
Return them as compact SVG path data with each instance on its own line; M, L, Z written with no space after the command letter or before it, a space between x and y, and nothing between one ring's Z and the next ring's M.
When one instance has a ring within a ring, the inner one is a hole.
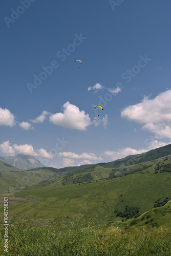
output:
M45 158L53 158L53 156L46 152L43 148L40 148L37 151L34 151L34 148L31 144L24 144L24 145L11 145L8 141L3 142L0 144L0 151L1 155L3 156L15 156L17 154L24 154L30 155L34 157L45 157Z

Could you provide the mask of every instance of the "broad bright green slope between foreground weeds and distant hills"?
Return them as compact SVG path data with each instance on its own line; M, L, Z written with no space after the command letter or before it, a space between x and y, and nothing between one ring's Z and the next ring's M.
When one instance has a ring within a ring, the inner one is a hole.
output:
M121 218L116 218L114 213L116 208L123 211L126 204L139 206L142 214L152 209L158 198L170 198L170 179L171 173L154 174L154 170L151 170L144 174L136 173L88 184L51 188L49 184L41 188L28 188L15 193L15 196L40 200L40 203L18 202L9 206L9 212L44 220L94 217L101 223L119 221ZM2 209L3 205L0 205Z

